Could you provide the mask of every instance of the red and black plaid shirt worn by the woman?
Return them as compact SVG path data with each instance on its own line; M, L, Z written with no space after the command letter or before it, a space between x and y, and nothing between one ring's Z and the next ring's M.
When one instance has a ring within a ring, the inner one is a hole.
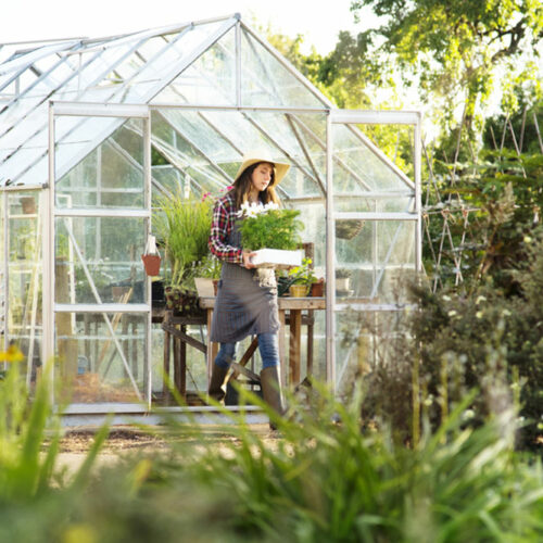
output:
M228 236L232 231L233 224L238 218L237 213L238 210L236 210L236 202L231 192L228 192L216 201L213 209L209 245L211 252L220 261L243 264L241 248L227 243Z

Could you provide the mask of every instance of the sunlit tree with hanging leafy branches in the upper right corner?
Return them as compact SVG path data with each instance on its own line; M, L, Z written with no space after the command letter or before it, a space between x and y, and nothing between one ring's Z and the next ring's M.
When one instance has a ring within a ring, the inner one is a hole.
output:
M463 110L469 135L482 128L477 109L489 99L501 72L508 80L503 105L519 85L532 81L530 93L541 98L536 48L543 37L543 4L534 0L353 0L352 11L369 7L383 24L358 40L372 62L394 56L405 80L419 85L426 100L441 99L444 128L454 126ZM381 52L383 54L379 55ZM522 58L522 62L519 59Z

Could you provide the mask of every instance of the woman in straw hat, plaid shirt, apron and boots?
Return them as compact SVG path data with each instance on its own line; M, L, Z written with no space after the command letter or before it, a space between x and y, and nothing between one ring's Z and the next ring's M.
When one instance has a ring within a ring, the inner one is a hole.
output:
M238 226L241 204L279 203L275 187L289 168L289 164L275 162L267 153L245 154L233 188L215 204L209 242L211 252L223 261L211 327L211 341L220 343L220 349L213 365L210 396L224 399L223 386L229 363L236 356L236 343L256 336L262 356L262 393L264 401L278 413L282 413L282 406L277 283L273 269L255 269L251 263L254 253L242 250Z

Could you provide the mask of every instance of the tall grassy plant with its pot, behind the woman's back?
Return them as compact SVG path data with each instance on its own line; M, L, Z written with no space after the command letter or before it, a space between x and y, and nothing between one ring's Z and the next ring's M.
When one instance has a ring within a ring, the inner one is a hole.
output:
M159 206L162 213L153 216L153 226L169 264L164 289L167 306L200 314L194 278L209 256L213 202L177 194L162 198Z

